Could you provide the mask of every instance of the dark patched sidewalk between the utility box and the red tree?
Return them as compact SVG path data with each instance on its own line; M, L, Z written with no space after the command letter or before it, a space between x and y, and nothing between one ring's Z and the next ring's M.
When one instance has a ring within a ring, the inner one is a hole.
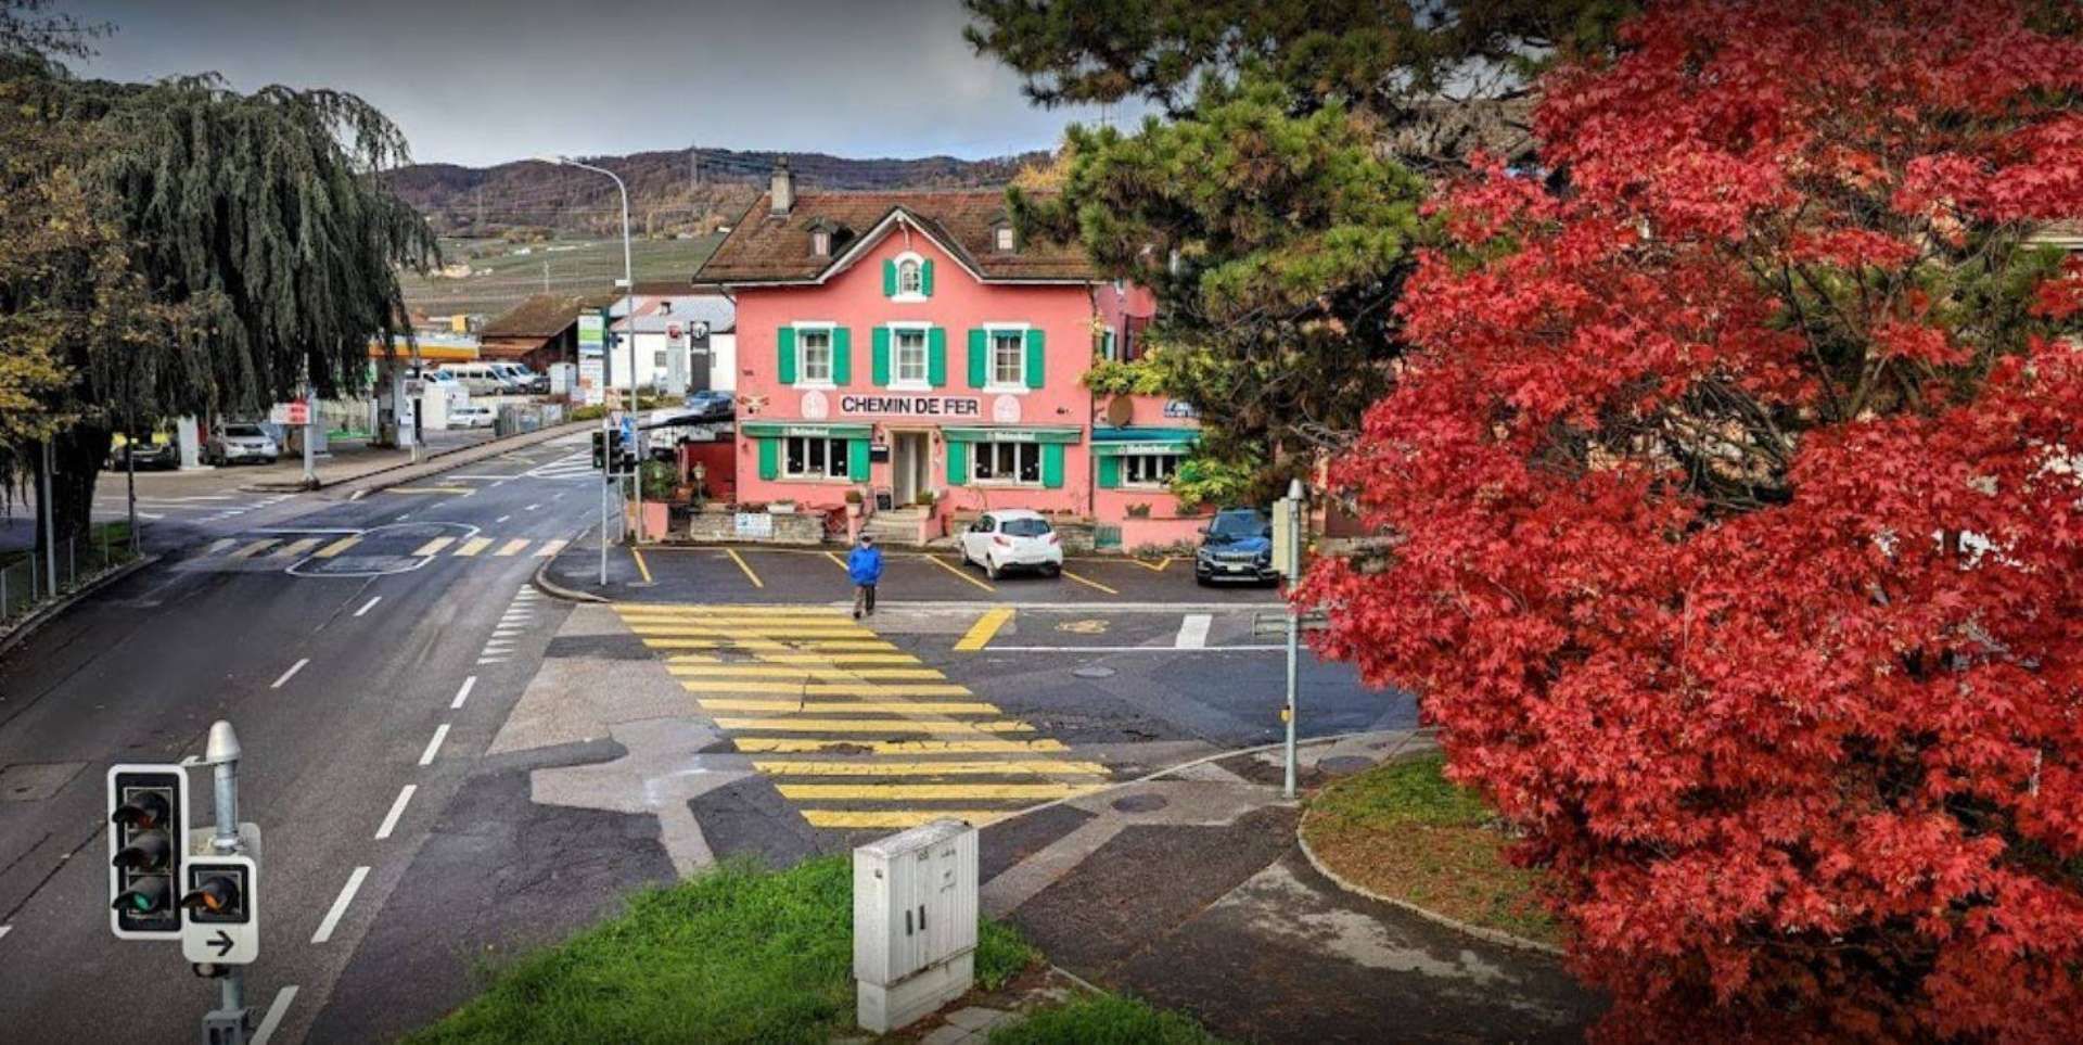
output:
M1423 745L1304 749L1304 783ZM1233 1041L1579 1041L1600 1001L1554 958L1346 893L1296 845L1279 751L1225 756L983 831L983 908L1077 976Z

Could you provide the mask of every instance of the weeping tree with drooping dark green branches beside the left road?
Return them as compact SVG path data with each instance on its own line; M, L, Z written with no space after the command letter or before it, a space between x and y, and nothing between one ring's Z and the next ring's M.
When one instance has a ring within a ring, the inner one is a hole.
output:
M365 391L410 333L400 266L437 260L377 179L404 135L352 94L0 54L0 227L37 233L0 248L0 481L42 481L48 441L42 539L87 529L115 431Z

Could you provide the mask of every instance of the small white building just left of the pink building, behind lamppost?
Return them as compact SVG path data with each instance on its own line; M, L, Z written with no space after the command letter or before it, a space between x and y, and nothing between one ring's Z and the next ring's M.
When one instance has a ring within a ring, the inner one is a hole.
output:
M737 308L721 294L635 296L637 387L669 393L737 387ZM629 298L608 306L610 385L629 387Z

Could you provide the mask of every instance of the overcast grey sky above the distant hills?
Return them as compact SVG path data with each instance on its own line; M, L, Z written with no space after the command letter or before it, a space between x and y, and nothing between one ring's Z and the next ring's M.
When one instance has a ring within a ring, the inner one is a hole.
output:
M69 0L112 21L85 75L217 71L337 87L412 158L689 144L964 158L1054 146L1096 110L1042 110L962 42L958 0Z

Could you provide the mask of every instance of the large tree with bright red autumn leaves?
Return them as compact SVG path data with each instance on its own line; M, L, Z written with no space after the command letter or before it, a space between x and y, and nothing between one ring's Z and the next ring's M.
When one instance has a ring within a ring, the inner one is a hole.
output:
M1610 1039L2083 1041L2079 17L1652 4L1441 200L1300 597Z

